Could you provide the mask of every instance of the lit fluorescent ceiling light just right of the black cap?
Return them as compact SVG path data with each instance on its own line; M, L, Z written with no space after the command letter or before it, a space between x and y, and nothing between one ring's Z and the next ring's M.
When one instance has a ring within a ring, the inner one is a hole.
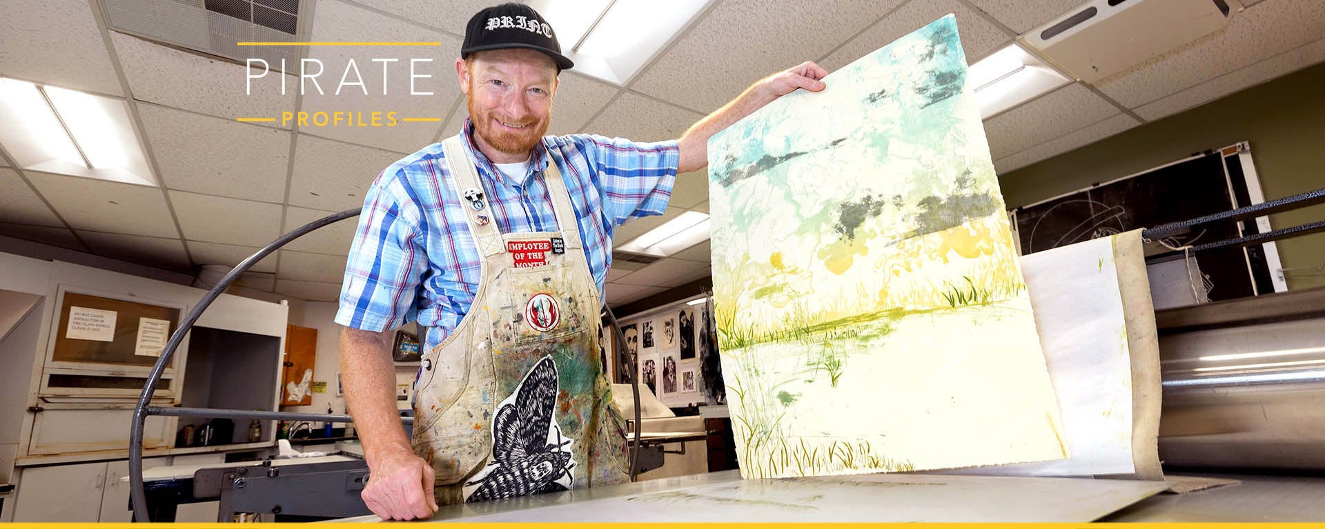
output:
M625 85L712 0L530 0L575 72Z

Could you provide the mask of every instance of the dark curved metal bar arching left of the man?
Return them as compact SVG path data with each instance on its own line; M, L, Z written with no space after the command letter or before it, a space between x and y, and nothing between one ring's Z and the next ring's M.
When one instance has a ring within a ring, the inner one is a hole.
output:
M129 430L129 495L131 504L134 506L134 520L136 521L150 521L147 518L147 499L143 492L143 426L147 422L148 415L154 415L160 408L152 408L151 400L152 394L156 392L156 383L160 381L162 373L166 371L166 366L170 365L171 358L175 355L175 349L179 349L180 342L184 341L184 334L193 327L193 323L216 301L216 297L221 294L227 288L231 286L235 280L240 277L241 273L248 272L257 261L274 252L277 248L284 247L286 243L303 236L307 232L325 227L327 224L359 216L359 209L346 209L339 213L327 215L322 219L314 220L301 228L297 228L289 233L285 233L272 244L257 251L238 265L236 265L225 277L207 290L207 294L199 300L193 310L188 312L188 316L180 322L179 329L171 334L170 341L166 342L166 349L162 350L159 358L156 358L156 365L152 366L151 374L147 377L147 386L143 387L143 394L138 396L138 407L134 408L134 422ZM325 418L325 416L323 416Z

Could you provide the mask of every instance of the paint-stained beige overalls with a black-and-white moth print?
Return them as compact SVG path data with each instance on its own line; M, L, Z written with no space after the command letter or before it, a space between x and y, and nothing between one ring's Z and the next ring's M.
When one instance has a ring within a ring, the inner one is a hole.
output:
M555 163L559 232L501 233L461 137L443 142L481 256L473 306L423 359L412 445L439 505L628 480L599 359L599 296ZM592 353L591 353L592 351Z

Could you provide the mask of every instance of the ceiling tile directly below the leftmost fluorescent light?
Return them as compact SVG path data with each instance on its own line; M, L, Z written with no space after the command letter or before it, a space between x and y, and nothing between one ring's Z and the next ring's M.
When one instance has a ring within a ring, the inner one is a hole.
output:
M65 221L74 229L178 237L160 188L26 171Z

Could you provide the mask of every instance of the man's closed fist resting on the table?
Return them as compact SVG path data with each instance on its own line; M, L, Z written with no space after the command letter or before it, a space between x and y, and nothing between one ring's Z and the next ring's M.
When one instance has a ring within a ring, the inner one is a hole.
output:
M432 479L428 461L412 451L395 451L374 461L360 497L382 520L431 518L437 512Z

